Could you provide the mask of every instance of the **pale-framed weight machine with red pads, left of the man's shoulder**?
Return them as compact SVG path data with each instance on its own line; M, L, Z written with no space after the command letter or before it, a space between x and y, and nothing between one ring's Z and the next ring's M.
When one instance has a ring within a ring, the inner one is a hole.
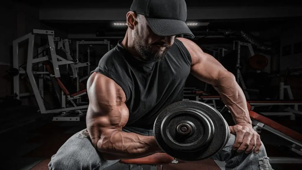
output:
M38 49L38 58L34 58L34 40L36 35L47 35L47 40L48 44L40 47ZM54 110L47 110L45 105L44 105L44 94L43 94L43 78L48 77L50 80L54 80L57 82L57 84L54 84L57 96L62 103L66 102L65 101L65 95L68 97L68 99L76 99L82 94L85 94L86 91L80 91L74 94L69 94L68 90L65 88L62 82L59 81L60 77L60 71L59 71L59 65L67 65L67 64L74 64L74 67L82 67L81 63L79 62L74 62L73 60L66 60L56 54L56 47L54 43L54 31L51 30L37 30L34 29L31 33L24 35L21 38L18 38L13 41L13 50L14 50L14 64L13 67L19 70L19 75L14 77L14 94L17 95L17 99L21 96L28 96L31 94L20 94L20 83L19 83L19 78L20 75L23 74L22 76L27 75L29 79L29 83L31 84L31 87L33 89L34 95L37 100L37 104L39 107L39 111L42 114L46 113L63 113L60 116L53 117L54 121L79 121L79 117L83 116L84 114L79 114L76 117L67 117L68 114L65 114L66 111L71 111L71 110L82 110L82 109L87 109L88 105L84 106L76 106L75 103L73 104L73 107L62 107L60 109L54 109ZM24 70L22 67L19 65L19 58L18 58L18 51L19 51L19 43L25 40L29 40L28 42L28 53L27 53L27 63L26 63L26 70ZM68 46L69 41L65 41L65 47ZM50 50L50 56L44 55L43 51L46 51L46 49ZM65 49L66 50L66 49ZM67 51L66 53L67 56L69 56L69 52ZM50 62L51 60L51 62ZM43 63L45 65L43 65ZM35 64L39 64L39 68L41 68L43 71L34 71L33 67ZM48 71L44 69L44 67L47 67ZM36 78L34 74L42 75L39 77L39 83L36 83ZM55 82L53 81L53 82ZM59 89L61 88L61 89ZM68 94L68 95L67 95ZM62 96L60 98L59 96ZM64 97L63 97L64 96Z

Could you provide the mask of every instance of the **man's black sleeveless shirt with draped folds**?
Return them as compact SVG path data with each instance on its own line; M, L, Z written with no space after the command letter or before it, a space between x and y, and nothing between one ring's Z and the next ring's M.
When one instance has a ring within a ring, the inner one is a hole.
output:
M175 38L167 57L145 62L133 57L121 44L108 51L93 72L114 80L126 94L129 119L126 126L153 129L158 113L183 99L183 88L191 70L191 56Z

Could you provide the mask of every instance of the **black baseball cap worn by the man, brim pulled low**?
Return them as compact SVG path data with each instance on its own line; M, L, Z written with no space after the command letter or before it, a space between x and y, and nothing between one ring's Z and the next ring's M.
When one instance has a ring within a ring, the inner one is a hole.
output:
M149 27L159 36L194 34L188 28L185 0L133 0L130 11L144 15Z

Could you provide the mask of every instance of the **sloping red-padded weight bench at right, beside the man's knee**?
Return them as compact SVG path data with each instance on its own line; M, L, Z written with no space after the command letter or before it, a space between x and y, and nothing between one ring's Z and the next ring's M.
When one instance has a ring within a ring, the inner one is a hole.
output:
M249 116L256 132L260 133L261 129L265 129L292 143L291 150L302 155L302 134L298 133L286 126L281 125L265 116L252 111L252 106L247 103ZM270 163L302 163L301 158L288 157L271 157Z

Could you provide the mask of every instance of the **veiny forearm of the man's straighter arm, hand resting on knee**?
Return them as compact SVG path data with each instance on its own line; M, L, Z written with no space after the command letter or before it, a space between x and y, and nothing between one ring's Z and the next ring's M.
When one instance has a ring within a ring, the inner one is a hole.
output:
M249 117L245 95L234 76L221 78L214 88L218 91L221 99L229 108L236 124L252 123Z

